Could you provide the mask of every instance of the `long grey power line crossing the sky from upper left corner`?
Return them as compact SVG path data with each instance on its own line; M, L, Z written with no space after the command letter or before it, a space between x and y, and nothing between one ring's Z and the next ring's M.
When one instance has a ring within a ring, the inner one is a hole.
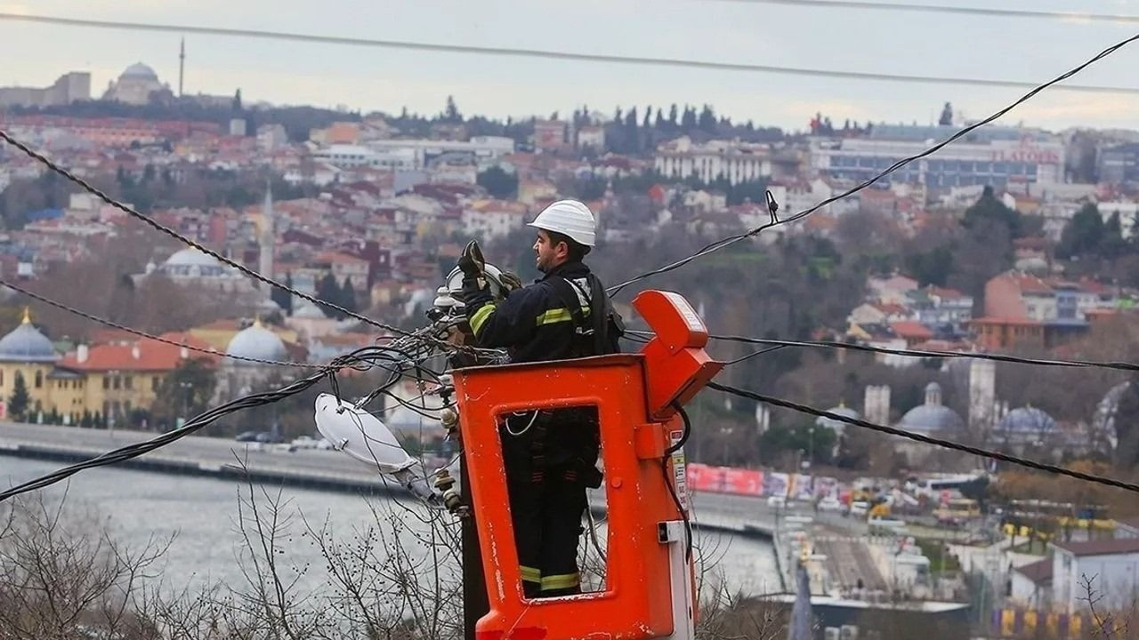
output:
M346 38L336 35L318 35L285 31L265 31L253 28L223 28L212 26L194 26L159 23L133 23L117 20L93 20L85 18L63 18L58 16L31 16L11 13L0 13L0 19L22 20L41 24L66 26L83 26L95 28L113 28L130 31L197 33L203 35L223 35L238 38L259 38L267 40L287 40L293 42L313 42L321 44L344 44L354 47L379 47L386 49L405 49L411 51L433 51L445 54L467 54L501 57L543 58L555 60L577 60L588 63L609 63L639 66L686 67L704 71L730 71L749 73L772 73L816 77L839 77L846 80L870 80L885 82L920 82L926 84L954 84L970 87L1003 87L1025 89L1035 83L1016 80L989 80L975 77L952 77L935 75L907 75L876 72L830 71L820 68L789 67L778 65L756 65L747 63L727 63L714 60L697 60L690 58L654 58L645 56L616 56L606 54L581 54L550 49L526 49L516 47L480 47L473 44L443 44L435 42L416 42L409 40L380 40L374 38ZM1068 84L1059 87L1066 91L1084 91L1096 93L1139 93L1133 87L1105 87L1090 84Z

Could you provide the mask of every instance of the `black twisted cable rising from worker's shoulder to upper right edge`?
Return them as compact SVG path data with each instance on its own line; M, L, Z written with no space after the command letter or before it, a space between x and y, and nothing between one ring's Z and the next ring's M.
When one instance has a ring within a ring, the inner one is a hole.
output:
M629 285L632 285L633 282L638 282L640 280L645 280L647 278L652 278L653 276L658 276L661 273L666 273L666 272L672 271L674 269L679 269L679 268L688 264L689 262L696 260L697 257L702 257L702 256L707 255L710 253L720 251L720 249L722 249L722 248L724 248L727 246L734 245L734 244L736 244L736 243L738 243L740 240L745 240L747 238L756 236L756 235L759 235L759 233L761 233L761 232L763 232L763 231L765 231L765 230L768 230L768 229L770 229L772 227L778 227L780 224L786 224L788 222L795 222L797 220L806 218L808 215L814 213L816 211L818 211L818 210L820 210L820 208L822 208L822 207L825 207L825 206L827 206L827 205L829 205L831 203L835 203L835 202L838 202L838 200L841 200L843 198L850 197L850 196L852 196L852 195L861 191L862 189L866 189L867 187L870 187L871 184L874 184L878 180L882 180L883 178L890 175L891 173L898 171L899 169L901 169L901 167L910 164L911 162L915 162L915 161L921 159L921 158L924 158L926 156L933 155L933 154L940 151L942 148L947 147L948 145L950 145L950 143L957 141L958 139L960 139L960 138L969 134L974 130L980 129L980 128L989 124L990 122L993 122L993 121L1000 118L1001 116L1003 116L1008 112L1010 112L1010 110L1015 109L1016 107L1021 106L1022 104L1031 100L1032 98L1034 98L1038 93L1040 93L1044 89L1048 89L1049 87L1052 87L1052 85L1055 85L1055 84L1057 84L1059 82L1063 82L1064 80L1067 80L1068 77L1072 77L1073 75L1082 72L1087 67L1089 67L1089 66L1098 63L1099 60L1106 58L1107 56L1111 56L1115 51L1122 49L1123 47L1126 47L1128 44L1134 42L1136 40L1139 40L1139 34L1132 35L1131 38L1128 38L1126 40L1122 40L1122 41L1120 41L1120 42L1117 42L1117 43L1108 47L1107 49L1104 49L1103 51L1100 51L1099 54L1097 54L1096 56L1093 56L1091 59L1084 61L1083 64L1081 64L1081 65L1079 65L1079 66L1076 66L1076 67L1074 67L1074 68L1072 68L1072 69L1070 69L1070 71L1067 71L1065 73L1062 73L1060 75L1054 77L1052 80L1049 80L1048 82L1046 82L1043 84L1034 87L1031 91L1029 91L1027 93L1025 93L1024 96L1022 96L1021 98L1018 98L1016 101L1014 101L1013 104L1008 105L1007 107L1003 107L1000 110L993 113L989 117L986 117L986 118L984 118L984 120L982 120L980 122L976 122L974 124L970 124L970 125L968 125L968 126L959 130L957 133L953 133L949 138L942 140L941 142L934 145L933 147L929 147L928 149L921 151L920 154L917 154L917 155L913 155L913 156L910 156L910 157L902 158L902 159L898 161L896 163L894 163L892 166L890 166L888 169L886 169L882 173L878 173L874 178L870 178L869 180L867 180L865 182L861 182L861 183L859 183L859 184L857 184L857 186L847 189L846 191L843 191L842 194L838 194L837 196L831 196L831 197L829 197L829 198L820 202L819 204L817 204L817 205L814 205L814 206L812 206L810 208L806 208L804 211L801 211L801 212L796 213L795 215L792 215L790 218L778 220L775 216L772 216L771 222L768 222L767 224L762 224L760 227L755 227L754 229L749 229L749 230L745 231L744 233L739 233L739 235L736 235L736 236L728 236L727 238L721 238L719 240L710 243L710 244L705 245L702 249L699 249L698 252L696 252L695 254L693 254L693 255L690 255L688 257L683 257L681 260L672 262L672 263L670 263L670 264L667 264L665 266L662 266L659 269L655 269L653 271L647 271L645 273L641 273L640 276L637 276L636 278L632 278L630 280L621 282L620 285L615 285L613 287L609 287L608 289L606 289L606 293L608 293L611 296L616 295L618 292L621 292L621 289L628 287Z

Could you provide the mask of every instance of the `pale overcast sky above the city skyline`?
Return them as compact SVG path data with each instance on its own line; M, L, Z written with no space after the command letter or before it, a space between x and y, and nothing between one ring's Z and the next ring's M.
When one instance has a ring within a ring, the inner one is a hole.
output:
M891 0L883 0L891 1ZM919 3L993 6L976 0ZM1007 0L1007 8L1139 15L1139 0ZM1137 23L794 7L727 0L0 0L0 13L482 47L519 47L837 71L1043 82L1136 32ZM92 93L142 61L177 89L179 35L0 19L0 85L43 87L88 71ZM588 106L710 104L789 130L936 120L951 101L981 118L1025 90L405 51L191 34L186 92L363 112L548 116ZM1072 82L1139 88L1139 42ZM1139 95L1047 91L1002 121L1062 130L1139 129Z

